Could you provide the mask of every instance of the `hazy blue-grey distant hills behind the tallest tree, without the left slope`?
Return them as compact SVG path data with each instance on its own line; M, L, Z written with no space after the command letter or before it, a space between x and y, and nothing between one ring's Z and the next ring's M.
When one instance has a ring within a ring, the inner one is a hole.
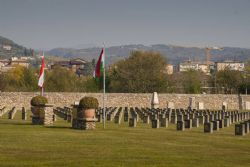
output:
M100 50L101 48L97 47L87 49L56 48L48 51L47 53L55 56L62 56L65 58L82 57L90 61L93 58L98 58ZM106 48L106 62L108 64L112 64L117 60L126 58L131 51L135 50L152 50L161 52L173 64L178 64L188 59L195 61L206 60L204 48L157 44L152 46L123 45L108 47ZM224 47L224 49L221 51L212 50L211 55L212 61L246 61L250 59L250 49Z

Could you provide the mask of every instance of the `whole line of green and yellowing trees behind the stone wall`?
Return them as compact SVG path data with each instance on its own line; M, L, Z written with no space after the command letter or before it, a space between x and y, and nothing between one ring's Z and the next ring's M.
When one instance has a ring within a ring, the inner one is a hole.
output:
M92 66L94 62L91 62ZM248 93L250 66L244 72L225 69L205 75L189 70L168 75L168 61L159 52L135 51L106 70L106 91L114 93ZM48 92L101 92L103 79L92 77L93 67L78 77L63 67L45 71L45 91ZM0 74L1 91L39 91L39 69L17 66Z

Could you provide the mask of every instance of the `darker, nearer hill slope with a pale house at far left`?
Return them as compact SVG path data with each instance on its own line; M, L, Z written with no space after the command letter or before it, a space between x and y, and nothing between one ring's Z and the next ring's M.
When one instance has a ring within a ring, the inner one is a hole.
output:
M0 59L10 58L12 56L31 56L32 52L32 49L27 49L10 39L0 36Z

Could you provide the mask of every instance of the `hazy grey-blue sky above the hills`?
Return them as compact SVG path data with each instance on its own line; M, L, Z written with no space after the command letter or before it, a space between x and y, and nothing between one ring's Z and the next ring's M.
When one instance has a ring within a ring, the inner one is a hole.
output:
M0 36L35 49L103 42L250 48L250 0L0 0Z

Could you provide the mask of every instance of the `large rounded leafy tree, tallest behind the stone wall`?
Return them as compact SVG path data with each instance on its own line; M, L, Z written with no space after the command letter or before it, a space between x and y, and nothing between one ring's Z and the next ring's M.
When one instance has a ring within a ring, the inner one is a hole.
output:
M165 92L166 60L158 52L135 51L111 67L111 92Z

